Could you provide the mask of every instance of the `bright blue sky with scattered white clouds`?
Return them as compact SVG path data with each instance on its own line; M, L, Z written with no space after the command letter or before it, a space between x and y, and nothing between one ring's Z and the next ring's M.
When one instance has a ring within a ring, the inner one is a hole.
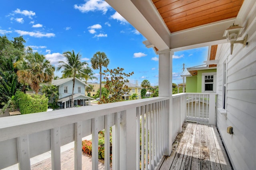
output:
M0 36L23 36L25 45L57 66L62 53L80 52L83 61L97 51L110 59L109 69L134 71L130 82L147 79L158 85L158 55L142 43L146 40L120 14L102 0L6 0L0 10ZM178 51L173 56L173 82L182 83L182 64L192 67L207 60L208 47ZM94 70L96 77L99 71ZM60 72L55 75L60 76ZM97 81L94 81L97 82Z

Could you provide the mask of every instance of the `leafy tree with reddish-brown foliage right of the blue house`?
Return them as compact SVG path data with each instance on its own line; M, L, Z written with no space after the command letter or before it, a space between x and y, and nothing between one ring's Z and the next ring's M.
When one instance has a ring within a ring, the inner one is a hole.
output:
M129 93L130 89L124 83L128 83L128 77L134 73L124 73L123 68L106 69L102 75L105 75L105 88L108 89L111 97L101 99L99 103L112 103L122 100L124 94Z

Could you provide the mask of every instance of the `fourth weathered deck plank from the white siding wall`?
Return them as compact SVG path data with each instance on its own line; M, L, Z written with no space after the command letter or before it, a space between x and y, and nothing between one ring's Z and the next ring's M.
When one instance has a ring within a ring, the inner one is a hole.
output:
M201 129L202 125L196 126L196 136L194 141L194 149L192 153L191 169L199 170L201 167Z

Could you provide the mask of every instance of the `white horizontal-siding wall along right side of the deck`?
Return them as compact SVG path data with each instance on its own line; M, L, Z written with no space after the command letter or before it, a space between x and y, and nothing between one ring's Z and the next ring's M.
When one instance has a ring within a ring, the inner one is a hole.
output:
M250 25L250 23L249 23ZM256 26L248 30L248 45L218 45L217 107L222 108L223 63L227 60L226 115L217 111L217 127L236 170L256 169ZM228 134L232 126L234 134Z

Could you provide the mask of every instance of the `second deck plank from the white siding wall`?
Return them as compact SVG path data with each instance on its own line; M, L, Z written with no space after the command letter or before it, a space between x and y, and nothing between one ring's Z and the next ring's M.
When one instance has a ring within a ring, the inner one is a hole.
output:
M216 149L216 145L214 142L213 134L212 134L212 127L207 127L207 137L208 137L208 146L210 150L210 163L211 163L211 169L214 170L220 170L220 161L218 158L218 153Z

